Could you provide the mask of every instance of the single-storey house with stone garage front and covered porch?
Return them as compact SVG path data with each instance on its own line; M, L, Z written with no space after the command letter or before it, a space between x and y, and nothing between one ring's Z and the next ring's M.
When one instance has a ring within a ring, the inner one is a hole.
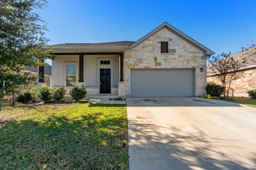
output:
M52 86L85 84L87 95L205 94L212 50L165 22L138 41L52 45ZM43 83L43 80L39 80Z

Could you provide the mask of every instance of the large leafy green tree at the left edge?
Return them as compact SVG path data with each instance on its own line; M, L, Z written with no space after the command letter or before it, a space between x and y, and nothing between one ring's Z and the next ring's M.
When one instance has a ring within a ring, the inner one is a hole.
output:
M44 21L34 12L46 7L45 0L0 1L0 87L15 92L17 86L31 83L26 66L42 66L50 49ZM19 80L19 81L14 81ZM8 87L10 86L10 87ZM15 88L12 88L15 87Z

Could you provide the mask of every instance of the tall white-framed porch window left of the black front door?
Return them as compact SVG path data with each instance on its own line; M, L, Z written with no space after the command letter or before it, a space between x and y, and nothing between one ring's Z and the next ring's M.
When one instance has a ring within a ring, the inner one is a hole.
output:
M66 86L76 86L76 64L66 64Z

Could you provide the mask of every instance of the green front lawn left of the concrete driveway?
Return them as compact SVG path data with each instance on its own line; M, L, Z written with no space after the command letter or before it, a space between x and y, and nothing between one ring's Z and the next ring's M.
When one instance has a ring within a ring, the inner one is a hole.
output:
M0 169L128 169L125 105L19 105L0 114Z

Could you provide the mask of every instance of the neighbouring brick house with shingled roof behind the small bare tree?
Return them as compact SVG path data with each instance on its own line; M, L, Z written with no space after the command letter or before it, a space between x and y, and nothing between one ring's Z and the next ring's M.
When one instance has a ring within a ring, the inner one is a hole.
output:
M247 91L256 89L256 47L251 47L244 50L243 52L238 52L231 54L229 57L234 57L235 60L241 60L246 58L247 64L243 69L243 77L235 80L231 85L230 95L236 97L248 97ZM252 55L253 54L253 55ZM250 57L249 57L250 56ZM253 61L252 61L253 60ZM207 71L207 82L214 81L220 83L219 80L215 78L215 74L212 74L210 70Z

